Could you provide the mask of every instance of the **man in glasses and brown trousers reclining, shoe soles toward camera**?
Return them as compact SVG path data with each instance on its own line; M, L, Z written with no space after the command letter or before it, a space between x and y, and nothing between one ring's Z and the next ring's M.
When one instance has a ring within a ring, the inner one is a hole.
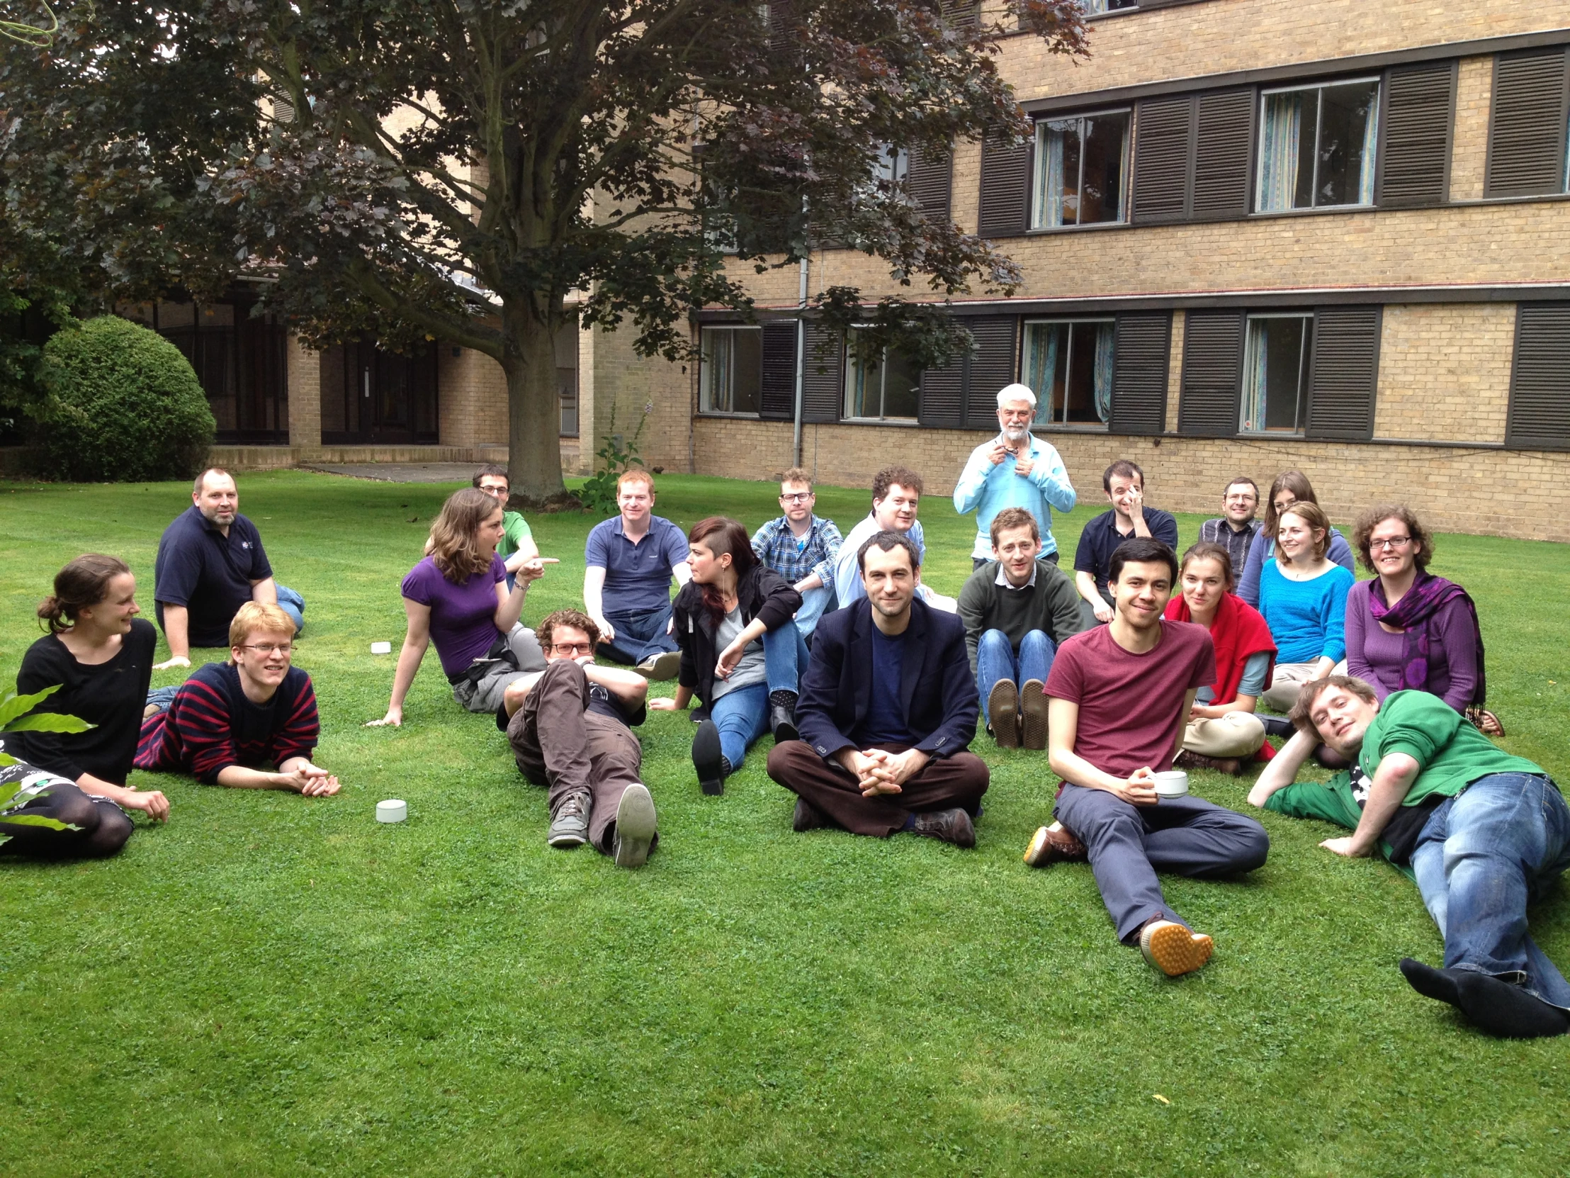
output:
M496 723L518 771L550 790L551 847L592 842L617 867L642 867L655 848L655 803L639 781L648 680L595 666L600 627L578 609L546 614L535 631L545 671L507 686Z

